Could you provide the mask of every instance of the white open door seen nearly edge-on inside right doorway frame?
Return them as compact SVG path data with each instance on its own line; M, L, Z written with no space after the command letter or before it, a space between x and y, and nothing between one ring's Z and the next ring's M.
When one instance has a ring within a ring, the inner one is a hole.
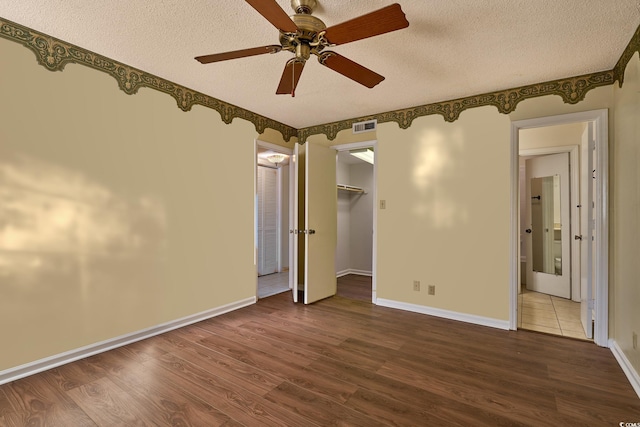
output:
M587 338L593 338L593 156L595 149L594 123L588 122L582 135L582 173L580 177L580 320Z

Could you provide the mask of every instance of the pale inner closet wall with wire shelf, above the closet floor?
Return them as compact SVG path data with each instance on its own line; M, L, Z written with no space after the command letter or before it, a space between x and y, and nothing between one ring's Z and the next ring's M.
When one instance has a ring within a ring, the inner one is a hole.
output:
M348 156L348 154L345 154ZM338 156L338 184L360 187L365 193L338 190L336 275L371 275L373 271L373 165L346 163Z

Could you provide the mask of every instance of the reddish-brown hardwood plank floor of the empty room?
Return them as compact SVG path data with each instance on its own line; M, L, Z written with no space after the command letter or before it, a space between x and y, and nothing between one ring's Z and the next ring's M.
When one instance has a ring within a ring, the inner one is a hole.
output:
M310 306L289 293L261 299L0 386L0 425L640 421L640 399L608 349L374 306L358 276L338 288Z

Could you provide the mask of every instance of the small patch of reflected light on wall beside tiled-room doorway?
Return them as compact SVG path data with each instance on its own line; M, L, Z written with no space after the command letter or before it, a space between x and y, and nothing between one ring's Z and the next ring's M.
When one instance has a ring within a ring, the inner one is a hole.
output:
M464 138L461 131L443 135L425 131L413 147L412 182L417 191L414 214L426 217L434 228L466 224L468 209L451 197L463 172Z

